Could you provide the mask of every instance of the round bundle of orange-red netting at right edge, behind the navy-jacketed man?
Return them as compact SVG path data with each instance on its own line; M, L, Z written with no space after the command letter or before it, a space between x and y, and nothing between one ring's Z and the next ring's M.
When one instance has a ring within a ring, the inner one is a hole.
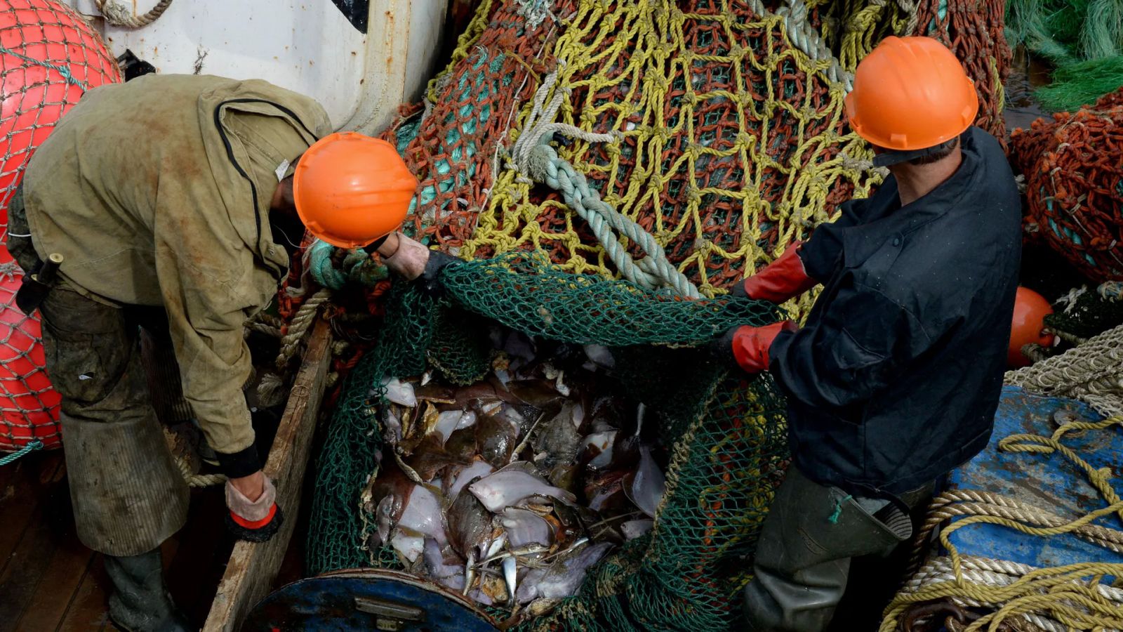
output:
M1090 279L1123 280L1123 88L1011 136L1029 229Z

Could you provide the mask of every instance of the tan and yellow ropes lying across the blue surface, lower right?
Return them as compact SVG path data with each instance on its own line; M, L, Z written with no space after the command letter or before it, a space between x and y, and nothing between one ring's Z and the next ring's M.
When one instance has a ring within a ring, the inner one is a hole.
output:
M944 527L939 541L947 557L929 561L909 580L885 611L880 632L893 632L898 619L912 605L951 597L969 606L995 608L965 630L995 631L1004 622L1023 620L1050 632L1068 630L1123 630L1123 590L1103 584L1105 576L1123 577L1123 563L1079 562L1053 568L1033 568L1015 562L961 556L950 535L971 524L996 524L1029 535L1071 533L1110 551L1123 552L1123 531L1092 524L1111 514L1123 516L1123 500L1107 475L1093 468L1074 450L1060 443L1075 431L1123 427L1123 417L1101 422L1065 423L1051 436L1015 434L998 442L1005 452L1059 453L1088 477L1108 505L1076 520L1066 520L1046 509L997 494L953 490L941 494L932 505L924 526L916 534L914 561L920 558L935 527L952 516L964 516Z

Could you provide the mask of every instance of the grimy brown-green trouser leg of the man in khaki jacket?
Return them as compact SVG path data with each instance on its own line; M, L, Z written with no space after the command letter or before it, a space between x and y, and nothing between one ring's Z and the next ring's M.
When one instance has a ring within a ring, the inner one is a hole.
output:
M137 328L65 287L40 312L79 539L109 556L152 551L186 521L188 487L148 400Z

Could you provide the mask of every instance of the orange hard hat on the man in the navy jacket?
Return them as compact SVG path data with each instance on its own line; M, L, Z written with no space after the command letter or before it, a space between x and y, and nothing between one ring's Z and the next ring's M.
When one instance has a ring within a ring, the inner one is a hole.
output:
M931 37L886 37L853 74L850 127L887 150L923 150L970 127L975 84L947 46Z

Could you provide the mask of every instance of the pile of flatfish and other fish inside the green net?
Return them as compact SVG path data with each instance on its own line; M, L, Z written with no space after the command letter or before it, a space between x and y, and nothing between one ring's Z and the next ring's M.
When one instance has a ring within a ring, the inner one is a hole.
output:
M666 451L643 405L612 392L608 349L491 335L481 382L426 373L382 385L367 543L481 605L533 616L651 529Z

